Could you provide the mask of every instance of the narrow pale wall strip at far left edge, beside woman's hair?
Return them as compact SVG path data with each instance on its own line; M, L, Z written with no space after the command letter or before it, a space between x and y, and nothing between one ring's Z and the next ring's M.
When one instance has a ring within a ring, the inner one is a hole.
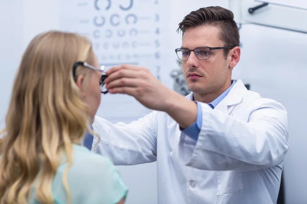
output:
M19 3L19 4L18 4ZM5 124L15 70L21 58L23 44L22 6L20 1L1 1L0 6L0 128Z

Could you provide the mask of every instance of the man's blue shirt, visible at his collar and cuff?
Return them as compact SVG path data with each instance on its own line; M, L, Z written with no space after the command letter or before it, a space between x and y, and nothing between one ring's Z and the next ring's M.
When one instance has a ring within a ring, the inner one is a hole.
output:
M229 93L230 89L233 87L235 84L235 80L233 80L231 86L226 89L220 96L215 98L210 104L208 104L212 109L214 109ZM190 97L192 100L194 100L193 93ZM201 127L202 127L202 122L203 122L203 112L202 112L202 107L201 104L198 101L195 101L197 104L197 116L196 116L196 121L187 127L186 129L182 130L184 134L189 136L190 138L194 139L195 141L198 140L198 136L201 132Z

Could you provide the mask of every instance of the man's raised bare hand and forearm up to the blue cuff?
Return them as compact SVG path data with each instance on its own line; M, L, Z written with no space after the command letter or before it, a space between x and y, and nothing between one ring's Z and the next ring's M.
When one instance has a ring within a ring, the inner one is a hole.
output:
M164 86L150 71L134 65L119 65L106 71L109 93L134 96L143 106L164 111L183 128L195 122L197 105Z

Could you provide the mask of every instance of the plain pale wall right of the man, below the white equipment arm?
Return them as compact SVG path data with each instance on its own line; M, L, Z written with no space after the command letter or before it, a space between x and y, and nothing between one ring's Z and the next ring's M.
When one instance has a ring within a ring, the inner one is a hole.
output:
M286 203L307 203L307 34L245 25L240 35L241 78L251 84L251 90L279 101L288 111L290 147L283 171Z

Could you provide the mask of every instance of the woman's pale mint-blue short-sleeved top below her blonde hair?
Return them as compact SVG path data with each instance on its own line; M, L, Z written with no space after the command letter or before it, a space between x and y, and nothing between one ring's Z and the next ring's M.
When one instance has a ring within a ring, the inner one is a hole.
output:
M73 165L68 173L68 183L72 203L115 204L126 197L128 189L123 184L119 172L112 161L97 155L89 149L74 145ZM62 176L68 163L57 168L52 184L55 203L67 203ZM32 200L30 203L38 204Z

